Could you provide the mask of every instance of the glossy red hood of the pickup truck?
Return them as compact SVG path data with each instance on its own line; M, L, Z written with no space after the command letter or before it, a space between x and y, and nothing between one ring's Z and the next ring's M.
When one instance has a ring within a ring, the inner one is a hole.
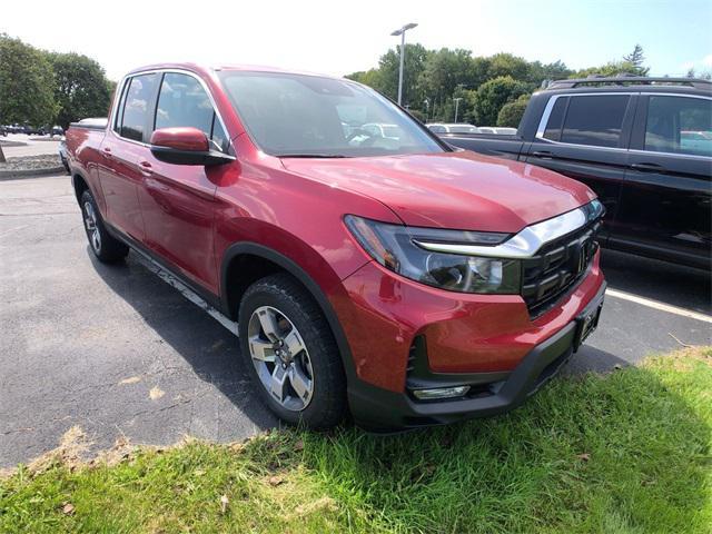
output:
M378 199L411 226L516 233L595 198L556 172L469 151L281 161L295 174Z

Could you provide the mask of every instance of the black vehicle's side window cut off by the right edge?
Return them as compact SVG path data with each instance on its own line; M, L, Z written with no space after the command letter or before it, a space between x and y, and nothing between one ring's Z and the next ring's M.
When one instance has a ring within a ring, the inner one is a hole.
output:
M712 100L651 96L645 150L712 156Z

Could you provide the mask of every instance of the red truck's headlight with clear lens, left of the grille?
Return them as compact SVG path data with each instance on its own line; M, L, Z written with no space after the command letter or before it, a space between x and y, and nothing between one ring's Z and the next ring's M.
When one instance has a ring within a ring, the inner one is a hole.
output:
M406 278L451 291L520 293L521 266L517 260L433 253L414 243L494 246L507 239L508 234L414 228L354 215L347 215L344 220L376 261Z

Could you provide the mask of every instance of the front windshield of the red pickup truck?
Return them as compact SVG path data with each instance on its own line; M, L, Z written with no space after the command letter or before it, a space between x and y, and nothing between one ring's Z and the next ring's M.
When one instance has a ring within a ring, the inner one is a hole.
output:
M445 151L386 98L348 80L247 71L219 76L250 137L273 156Z

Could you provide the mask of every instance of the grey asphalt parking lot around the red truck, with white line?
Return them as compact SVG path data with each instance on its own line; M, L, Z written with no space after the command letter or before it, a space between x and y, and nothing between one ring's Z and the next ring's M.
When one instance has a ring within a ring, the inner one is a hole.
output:
M610 251L604 270L601 325L566 373L712 343L708 275ZM0 181L0 467L75 425L101 448L235 441L277 423L222 325L135 254L93 259L66 176Z

